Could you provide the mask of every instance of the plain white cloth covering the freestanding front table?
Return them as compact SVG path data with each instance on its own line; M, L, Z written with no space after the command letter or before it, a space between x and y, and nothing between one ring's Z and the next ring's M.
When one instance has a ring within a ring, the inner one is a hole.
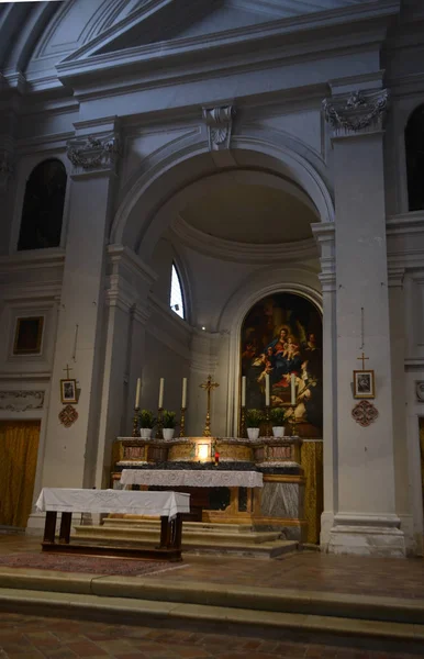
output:
M126 513L172 520L177 513L190 512L190 494L43 488L35 507L41 513Z

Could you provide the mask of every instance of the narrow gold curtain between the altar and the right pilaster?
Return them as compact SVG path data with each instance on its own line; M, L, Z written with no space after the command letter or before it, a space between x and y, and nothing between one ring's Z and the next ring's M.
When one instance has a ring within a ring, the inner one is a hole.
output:
M323 512L323 443L304 442L301 465L305 477L304 517L308 522L308 543L320 543L321 513Z

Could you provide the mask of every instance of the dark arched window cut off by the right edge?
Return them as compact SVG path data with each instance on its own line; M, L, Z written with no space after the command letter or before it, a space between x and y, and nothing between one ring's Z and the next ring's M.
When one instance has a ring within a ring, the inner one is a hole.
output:
M411 114L405 129L409 210L424 209L424 105Z

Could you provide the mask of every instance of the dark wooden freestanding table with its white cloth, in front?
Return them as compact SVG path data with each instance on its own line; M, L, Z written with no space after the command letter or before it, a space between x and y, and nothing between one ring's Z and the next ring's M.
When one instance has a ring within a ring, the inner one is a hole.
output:
M43 551L181 560L182 515L190 512L189 494L43 488L35 506L37 511L46 513ZM55 540L57 513L62 513L58 543ZM160 516L159 546L150 548L71 544L72 513L126 513Z

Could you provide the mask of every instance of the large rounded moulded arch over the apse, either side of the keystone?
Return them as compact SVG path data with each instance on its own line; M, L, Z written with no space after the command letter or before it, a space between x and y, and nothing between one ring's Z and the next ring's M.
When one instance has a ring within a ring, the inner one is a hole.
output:
M233 138L232 155L231 169L250 167L279 174L308 194L322 222L334 221L326 166L306 145L283 133L255 127ZM150 157L143 174L126 187L112 224L111 242L135 250L141 247L141 256L148 258L172 220L169 213L172 198L188 185L216 171L202 135L189 135L163 147Z

